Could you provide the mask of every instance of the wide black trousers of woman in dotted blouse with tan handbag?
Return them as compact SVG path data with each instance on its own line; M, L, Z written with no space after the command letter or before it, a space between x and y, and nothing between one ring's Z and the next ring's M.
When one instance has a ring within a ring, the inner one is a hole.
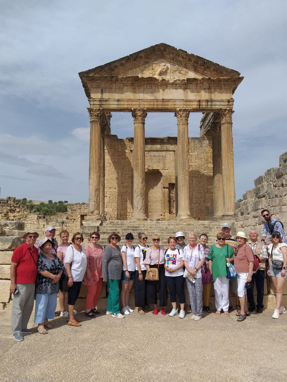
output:
M150 265L150 268L157 268L157 264ZM160 264L158 269L158 281L147 280L147 303L157 304L157 290L160 297L160 306L167 305L167 290L165 280L165 265Z

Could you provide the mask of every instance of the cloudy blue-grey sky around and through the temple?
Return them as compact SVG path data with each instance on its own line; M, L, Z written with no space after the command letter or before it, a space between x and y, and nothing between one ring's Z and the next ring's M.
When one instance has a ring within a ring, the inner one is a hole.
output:
M284 0L0 0L1 197L88 201L89 117L78 72L164 42L245 77L234 94L236 199L287 150ZM200 113L189 117L199 136ZM176 136L149 113L146 136ZM133 136L130 113L112 133Z

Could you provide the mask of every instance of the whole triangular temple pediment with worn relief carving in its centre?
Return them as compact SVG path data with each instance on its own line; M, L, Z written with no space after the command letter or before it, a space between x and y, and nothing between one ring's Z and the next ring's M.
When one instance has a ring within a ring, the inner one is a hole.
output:
M185 78L239 77L240 73L187 53L185 50L161 43L83 71L79 75L80 77L83 75L155 77L174 81Z

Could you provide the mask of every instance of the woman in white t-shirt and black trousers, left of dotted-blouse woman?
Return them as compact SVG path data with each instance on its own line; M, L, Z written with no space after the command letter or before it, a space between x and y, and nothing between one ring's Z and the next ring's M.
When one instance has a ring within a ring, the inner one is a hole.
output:
M139 314L145 314L145 306L147 305L147 283L145 275L147 268L143 264L145 254L147 253L147 235L144 232L138 233L140 244L135 248L135 306Z

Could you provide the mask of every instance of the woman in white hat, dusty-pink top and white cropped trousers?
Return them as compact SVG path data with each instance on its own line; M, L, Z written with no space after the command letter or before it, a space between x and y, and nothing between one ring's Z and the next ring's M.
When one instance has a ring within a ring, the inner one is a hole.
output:
M241 322L249 316L246 300L246 282L251 282L253 271L253 251L247 243L248 239L244 232L237 232L235 236L237 247L234 251L234 268L237 272L237 294L240 301L240 312L236 313L237 321Z

